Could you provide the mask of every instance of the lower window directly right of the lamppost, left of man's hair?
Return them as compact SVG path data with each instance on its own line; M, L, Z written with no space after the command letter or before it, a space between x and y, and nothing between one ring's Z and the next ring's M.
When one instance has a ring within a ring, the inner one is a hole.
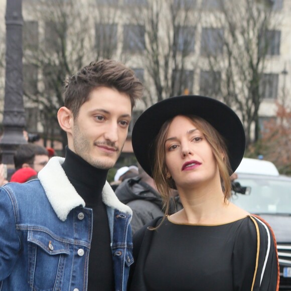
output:
M27 95L35 95L38 90L38 69L32 64L23 65L23 89Z

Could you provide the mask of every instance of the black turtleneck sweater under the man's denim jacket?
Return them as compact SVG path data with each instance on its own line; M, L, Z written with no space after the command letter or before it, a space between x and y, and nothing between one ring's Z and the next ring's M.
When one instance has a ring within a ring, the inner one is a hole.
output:
M93 211L93 232L89 253L88 291L114 290L110 231L102 189L108 170L97 169L66 148L62 165L69 181Z

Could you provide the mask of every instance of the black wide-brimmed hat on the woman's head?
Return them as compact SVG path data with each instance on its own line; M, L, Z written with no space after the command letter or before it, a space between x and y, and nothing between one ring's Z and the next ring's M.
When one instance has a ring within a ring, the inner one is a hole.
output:
M243 125L230 107L216 99L198 95L165 99L152 105L138 117L131 138L133 152L143 170L153 177L155 138L164 122L177 115L200 116L224 137L231 170L234 173L245 151Z

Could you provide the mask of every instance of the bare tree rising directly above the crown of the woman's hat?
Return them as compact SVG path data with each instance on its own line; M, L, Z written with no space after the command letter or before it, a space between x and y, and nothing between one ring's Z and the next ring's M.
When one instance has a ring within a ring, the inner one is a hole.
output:
M193 0L149 0L129 11L127 21L136 26L136 41L140 44L144 38L140 54L148 74L147 106L173 95L192 93L199 19Z

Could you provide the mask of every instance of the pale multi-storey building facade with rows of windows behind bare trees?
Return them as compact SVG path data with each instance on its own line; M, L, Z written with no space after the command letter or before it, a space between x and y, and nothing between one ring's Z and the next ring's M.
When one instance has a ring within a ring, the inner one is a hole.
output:
M239 111L239 104L255 107L255 96L257 124L263 130L263 122L276 116L276 102L291 103L291 1L243 0L235 5L230 0L23 0L27 130L61 149L54 136L61 139L56 112L62 105L63 80L102 58L131 67L146 88L133 112L124 155L132 152L134 119L173 95L221 99L243 120L246 111ZM6 0L0 0L3 44L5 7ZM248 18L253 28L246 28ZM5 63L5 48L1 52ZM251 62L257 68L247 65ZM5 71L0 70L3 80ZM252 95L251 84L257 92ZM3 112L4 82L0 85ZM253 139L255 123L244 123Z

